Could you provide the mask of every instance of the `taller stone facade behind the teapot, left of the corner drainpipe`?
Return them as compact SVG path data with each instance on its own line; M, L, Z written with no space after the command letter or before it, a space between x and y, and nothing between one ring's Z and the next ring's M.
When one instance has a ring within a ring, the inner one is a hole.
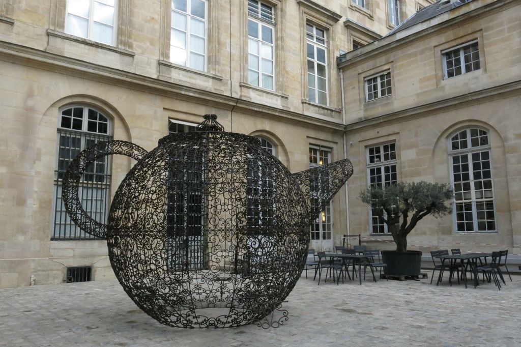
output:
M391 3L0 0L0 288L63 282L77 266L113 278L106 242L71 225L60 201L70 158L96 141L151 150L213 113L292 172L344 158L337 56L432 1ZM106 218L132 165L101 160L85 177L93 216ZM345 206L342 192L314 224L317 249L341 243Z

